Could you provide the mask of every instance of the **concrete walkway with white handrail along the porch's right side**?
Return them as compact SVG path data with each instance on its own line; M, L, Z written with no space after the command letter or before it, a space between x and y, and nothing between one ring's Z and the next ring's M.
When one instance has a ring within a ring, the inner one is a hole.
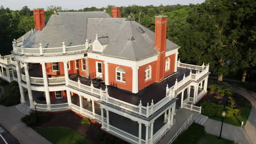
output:
M176 119L175 125L173 125L172 128L166 133L166 135L164 137L162 137L159 144L160 143L161 144L167 144L172 139L172 137L177 133L177 131L182 127L182 125L185 123L185 121L187 121L187 119L192 114L193 114L193 117L192 117L192 122L193 122L193 121L195 121L197 116L200 115L200 113L190 111L190 110L187 110L187 109L179 109L177 111L176 116L174 117ZM188 128L188 127L186 127L186 128Z

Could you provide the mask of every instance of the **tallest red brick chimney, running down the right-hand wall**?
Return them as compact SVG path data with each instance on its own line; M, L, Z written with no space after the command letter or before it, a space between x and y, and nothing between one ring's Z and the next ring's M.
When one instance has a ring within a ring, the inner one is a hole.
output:
M156 82L165 78L167 16L155 16L155 49L160 53L156 61Z

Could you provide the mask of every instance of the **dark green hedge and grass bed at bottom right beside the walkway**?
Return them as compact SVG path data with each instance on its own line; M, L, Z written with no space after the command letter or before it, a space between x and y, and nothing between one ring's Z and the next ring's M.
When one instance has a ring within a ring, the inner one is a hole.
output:
M234 142L226 139L219 140L218 136L207 134L203 125L192 123L172 144L232 144Z

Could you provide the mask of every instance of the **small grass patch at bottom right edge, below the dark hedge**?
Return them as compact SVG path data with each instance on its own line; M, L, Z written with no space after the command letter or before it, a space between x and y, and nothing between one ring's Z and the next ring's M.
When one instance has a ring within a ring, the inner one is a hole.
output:
M195 144L232 144L234 142L226 139L219 140L218 136L205 133Z

